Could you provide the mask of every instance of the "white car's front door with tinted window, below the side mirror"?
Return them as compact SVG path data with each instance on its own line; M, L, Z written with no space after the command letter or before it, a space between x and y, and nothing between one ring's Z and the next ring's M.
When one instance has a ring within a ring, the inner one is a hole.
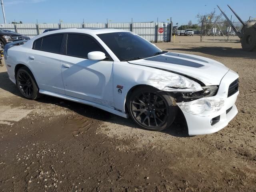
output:
M89 60L92 51L108 53L92 36L86 34L66 34L66 55L61 59L62 78L66 95L113 105L113 60Z

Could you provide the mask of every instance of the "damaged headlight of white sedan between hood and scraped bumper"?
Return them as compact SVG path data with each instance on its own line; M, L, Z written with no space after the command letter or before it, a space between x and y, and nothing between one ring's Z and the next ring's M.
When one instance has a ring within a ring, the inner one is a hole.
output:
M183 98L186 99L196 99L196 98L203 98L203 97L212 97L217 94L218 86L203 86L202 91L192 92L192 93L182 93Z

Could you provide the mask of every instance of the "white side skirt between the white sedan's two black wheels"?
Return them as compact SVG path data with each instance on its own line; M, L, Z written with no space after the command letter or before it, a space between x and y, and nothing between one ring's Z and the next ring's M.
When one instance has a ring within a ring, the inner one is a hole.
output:
M62 99L66 99L66 100L70 100L70 101L74 101L74 102L78 102L78 103L82 103L82 104L86 104L86 105L90 105L99 109L102 109L104 111L116 114L118 116L124 117L124 118L128 118L128 114L126 113L122 113L118 110L115 110L114 108L109 108L94 102L90 102L90 101L86 101L86 100L82 100L82 99L78 99L75 97L71 97L71 96L67 96L67 95L63 95L63 94L59 94L59 93L54 93L54 92L50 92L50 91L46 91L46 90L39 90L39 93L41 94L45 94L45 95L49 95L49 96L53 96L53 97L58 97L58 98L62 98Z

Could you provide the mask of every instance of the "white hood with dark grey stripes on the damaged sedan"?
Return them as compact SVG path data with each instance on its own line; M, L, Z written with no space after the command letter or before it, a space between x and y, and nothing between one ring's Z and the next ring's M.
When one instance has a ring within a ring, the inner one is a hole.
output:
M222 63L190 54L167 52L158 56L129 61L195 78L206 86L219 85L229 68Z

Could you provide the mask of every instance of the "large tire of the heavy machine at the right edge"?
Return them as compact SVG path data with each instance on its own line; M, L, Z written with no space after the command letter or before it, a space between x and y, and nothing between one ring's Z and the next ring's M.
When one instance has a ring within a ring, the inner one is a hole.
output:
M242 48L245 51L256 49L256 29L254 27L246 28L241 40Z

